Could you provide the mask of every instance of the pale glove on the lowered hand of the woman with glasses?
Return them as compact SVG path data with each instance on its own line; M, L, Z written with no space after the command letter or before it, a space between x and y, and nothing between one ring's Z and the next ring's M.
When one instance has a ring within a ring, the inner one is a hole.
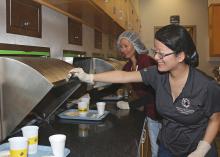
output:
M199 144L192 153L190 153L187 157L205 157L206 153L211 148L211 145L206 141L199 141Z

